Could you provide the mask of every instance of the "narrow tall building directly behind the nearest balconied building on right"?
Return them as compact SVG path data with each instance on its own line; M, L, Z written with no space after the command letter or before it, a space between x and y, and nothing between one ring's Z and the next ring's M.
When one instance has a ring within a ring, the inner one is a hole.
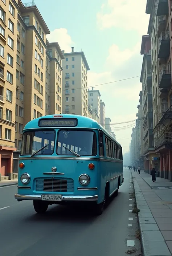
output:
M143 55L140 82L142 83L143 99L143 153L144 170L150 172L152 159L156 159L153 142L153 103L152 103L152 64L151 64L151 39L149 35L142 37L140 54Z

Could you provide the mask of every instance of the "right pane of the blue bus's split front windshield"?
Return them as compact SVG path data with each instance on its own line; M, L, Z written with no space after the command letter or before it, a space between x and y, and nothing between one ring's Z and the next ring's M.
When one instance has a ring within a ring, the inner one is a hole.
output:
M57 154L73 155L66 148L79 155L97 155L97 140L94 131L60 130L58 133Z

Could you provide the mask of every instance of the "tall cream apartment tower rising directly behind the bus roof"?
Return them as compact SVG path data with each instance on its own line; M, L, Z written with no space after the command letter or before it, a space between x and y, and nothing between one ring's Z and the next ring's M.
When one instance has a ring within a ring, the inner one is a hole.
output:
M62 112L88 116L87 71L90 70L83 52L64 53L62 61Z

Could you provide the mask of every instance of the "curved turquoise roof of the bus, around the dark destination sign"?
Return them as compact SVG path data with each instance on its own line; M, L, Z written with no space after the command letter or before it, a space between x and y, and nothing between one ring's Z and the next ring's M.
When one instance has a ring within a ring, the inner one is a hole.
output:
M44 126L44 127L40 127L38 125L38 122L41 119L54 119L57 120L57 118L60 119L60 121L62 121L63 119L77 119L78 123L76 126L67 126L68 128L73 128L73 127L78 127L78 128L91 128L91 129L101 129L108 137L110 137L113 141L115 141L119 146L121 146L107 131L106 129L100 125L97 121L95 121L92 118L89 117L83 117L82 115L70 115L70 114L54 114L54 115L45 115L43 117L39 117L36 119L31 120L30 122L28 122L23 131L25 130L30 130L30 129L37 129L37 128L42 128L42 129L47 129L53 126ZM54 128L57 128L57 126L54 126ZM58 127L59 128L59 127ZM65 126L61 126L61 128L66 128Z

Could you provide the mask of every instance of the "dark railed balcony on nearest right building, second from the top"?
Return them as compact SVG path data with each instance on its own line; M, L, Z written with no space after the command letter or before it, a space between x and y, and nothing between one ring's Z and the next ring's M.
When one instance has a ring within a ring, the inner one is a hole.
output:
M170 54L169 31L161 32L158 45L158 58L168 58Z

